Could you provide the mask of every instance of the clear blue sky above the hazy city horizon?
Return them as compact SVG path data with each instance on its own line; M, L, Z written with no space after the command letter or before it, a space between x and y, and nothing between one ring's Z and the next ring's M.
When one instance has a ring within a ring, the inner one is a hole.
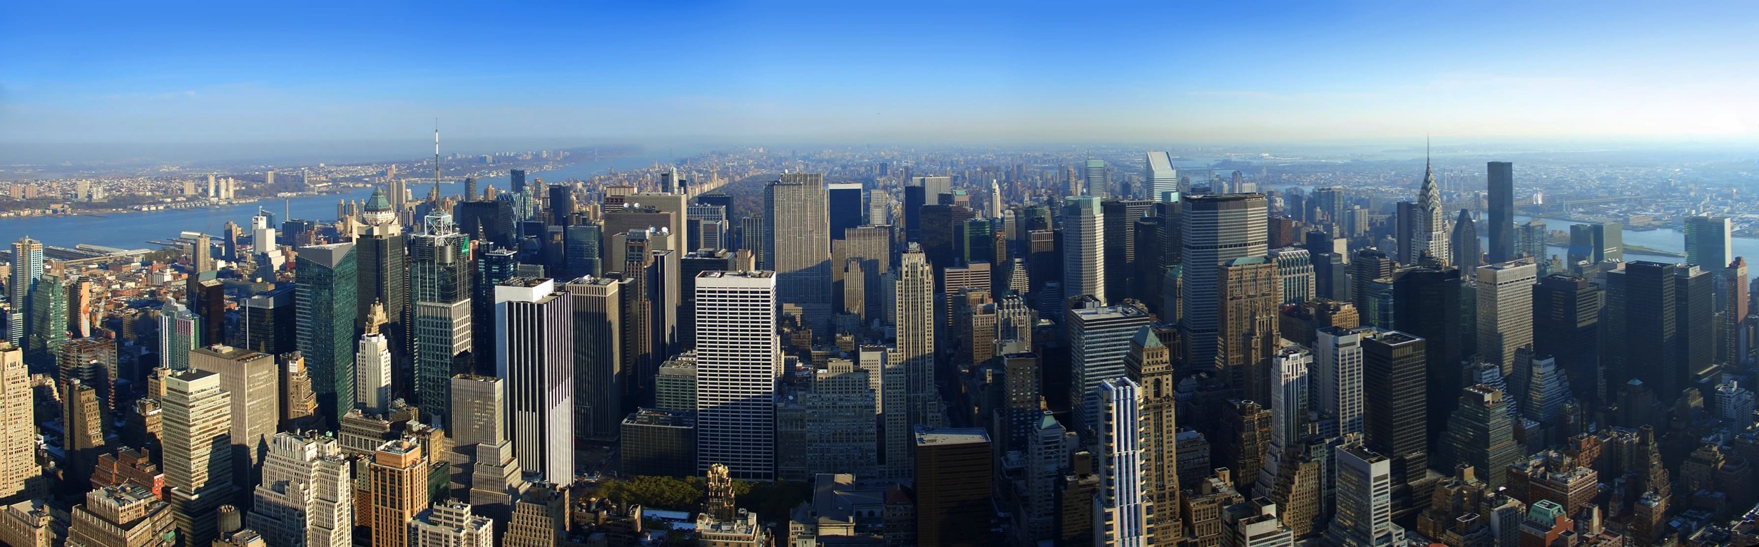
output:
M1759 137L1745 2L63 4L0 142Z

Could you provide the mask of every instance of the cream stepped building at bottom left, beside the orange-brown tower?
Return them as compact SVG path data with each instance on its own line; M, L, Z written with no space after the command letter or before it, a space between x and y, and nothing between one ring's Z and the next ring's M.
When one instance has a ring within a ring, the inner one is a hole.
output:
M303 538L306 547L354 543L354 466L334 436L276 433L262 459L262 484L246 526L269 545Z

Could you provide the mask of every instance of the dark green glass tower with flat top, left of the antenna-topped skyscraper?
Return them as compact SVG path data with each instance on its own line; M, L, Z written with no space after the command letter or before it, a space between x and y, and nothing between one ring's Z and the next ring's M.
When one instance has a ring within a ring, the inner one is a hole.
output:
M299 248L294 274L299 354L318 394L318 413L331 427L354 408L355 280L354 243Z

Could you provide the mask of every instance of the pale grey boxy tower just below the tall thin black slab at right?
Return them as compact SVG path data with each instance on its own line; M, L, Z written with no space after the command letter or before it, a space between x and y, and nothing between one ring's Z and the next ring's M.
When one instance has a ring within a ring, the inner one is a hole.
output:
M1478 267L1478 352L1509 375L1514 350L1534 343L1534 280L1527 260Z

